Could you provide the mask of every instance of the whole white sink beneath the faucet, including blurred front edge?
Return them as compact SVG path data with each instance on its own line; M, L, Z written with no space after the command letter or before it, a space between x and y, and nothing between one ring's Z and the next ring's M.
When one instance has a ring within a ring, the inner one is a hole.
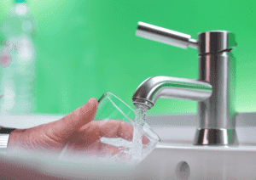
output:
M1 125L33 127L58 120L62 116L64 115L2 116ZM237 115L236 124L240 126L236 127L240 143L237 147L194 146L192 143L196 126L173 126L173 117L168 119L172 125L168 125L165 118L148 119L148 124L160 136L161 143L136 170L125 172L108 166L108 170L103 171L98 166L88 167L46 160L37 163L37 167L41 172L67 179L256 179L256 127L247 126L250 124L248 121L255 121L252 120L255 114L247 118L245 115ZM183 119L186 118L184 116ZM195 115L189 119L193 121L193 118L195 119ZM156 120L158 123L154 123Z

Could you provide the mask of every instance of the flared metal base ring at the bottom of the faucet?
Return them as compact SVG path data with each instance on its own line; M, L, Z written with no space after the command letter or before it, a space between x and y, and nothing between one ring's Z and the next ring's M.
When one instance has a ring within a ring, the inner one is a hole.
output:
M198 128L195 132L194 145L238 145L236 129Z

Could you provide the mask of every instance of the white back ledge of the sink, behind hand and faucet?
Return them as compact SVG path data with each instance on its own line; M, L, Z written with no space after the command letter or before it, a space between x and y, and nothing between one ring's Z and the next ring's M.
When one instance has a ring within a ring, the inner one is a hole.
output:
M29 128L35 127L51 121L57 121L65 115L51 115L51 114L32 114L32 115L0 115L0 126L14 127L14 128ZM196 130L196 114L190 115L149 115L147 116L147 123L160 136L161 144L172 143L183 145L191 144L195 136ZM32 124L29 124L31 123ZM189 122L189 123L187 123ZM236 133L238 142L243 147L252 149L256 144L256 113L240 113L236 115ZM160 148L159 146L158 148ZM162 146L163 147L163 146ZM177 147L173 145L173 147ZM200 147L200 146L195 146ZM208 146L209 147L209 146ZM240 147L240 146L239 146ZM218 149L217 146L212 146ZM204 148L201 149L212 149ZM223 147L221 148L223 149ZM230 147L229 147L230 149ZM234 149L234 147L232 148ZM230 150L232 150L230 149ZM236 148L235 148L236 149ZM254 149L253 149L254 151Z

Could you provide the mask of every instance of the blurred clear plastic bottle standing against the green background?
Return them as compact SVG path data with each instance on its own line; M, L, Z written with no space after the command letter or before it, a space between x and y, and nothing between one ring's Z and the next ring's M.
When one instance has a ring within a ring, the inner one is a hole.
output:
M22 0L16 0L0 25L1 114L33 114L36 111L37 51L32 41L36 21Z

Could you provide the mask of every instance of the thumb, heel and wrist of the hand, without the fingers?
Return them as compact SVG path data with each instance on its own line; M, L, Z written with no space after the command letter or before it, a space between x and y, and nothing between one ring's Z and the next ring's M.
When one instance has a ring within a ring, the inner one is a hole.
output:
M7 153L19 155L21 151L30 155L59 155L65 144L73 138L73 132L92 121L97 104L96 98L90 98L86 104L58 121L27 129L15 129L9 136Z

